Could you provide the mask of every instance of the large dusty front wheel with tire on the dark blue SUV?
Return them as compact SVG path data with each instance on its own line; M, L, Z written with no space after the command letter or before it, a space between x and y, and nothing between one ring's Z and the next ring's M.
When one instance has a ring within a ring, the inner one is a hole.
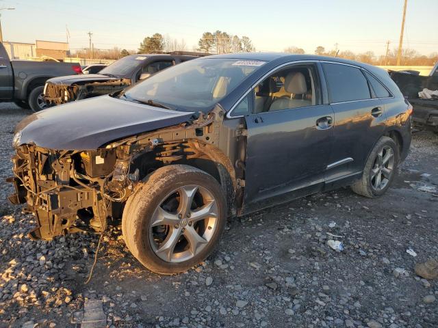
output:
M122 232L144 267L171 275L205 260L216 249L226 221L227 202L211 175L188 165L169 165L146 177L129 197Z

